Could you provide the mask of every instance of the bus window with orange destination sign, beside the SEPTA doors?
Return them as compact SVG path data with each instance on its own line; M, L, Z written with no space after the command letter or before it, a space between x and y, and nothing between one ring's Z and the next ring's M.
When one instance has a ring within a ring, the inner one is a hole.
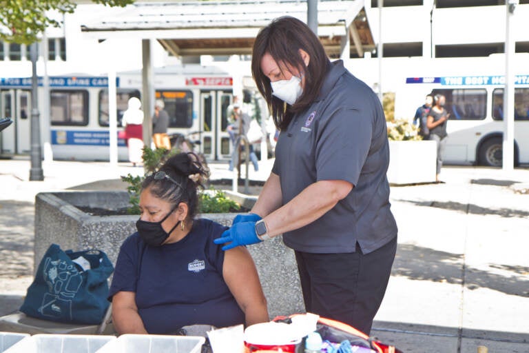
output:
M193 94L191 91L156 91L169 114L169 128L191 128L193 125Z

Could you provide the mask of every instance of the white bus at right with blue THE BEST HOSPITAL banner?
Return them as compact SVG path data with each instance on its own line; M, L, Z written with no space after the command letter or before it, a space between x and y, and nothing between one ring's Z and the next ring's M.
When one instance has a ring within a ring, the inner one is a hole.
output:
M446 163L501 166L505 77L407 77L406 94L443 94ZM398 93L397 93L398 94ZM397 99L397 98L396 98ZM417 104L416 104L417 105ZM417 105L418 106L418 105ZM415 107L416 108L416 107ZM515 165L529 163L529 74L515 79Z

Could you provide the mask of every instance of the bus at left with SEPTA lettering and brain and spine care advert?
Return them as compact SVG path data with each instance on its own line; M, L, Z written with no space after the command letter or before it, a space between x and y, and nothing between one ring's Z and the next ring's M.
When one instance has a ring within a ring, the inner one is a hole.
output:
M121 72L116 79L118 130L130 97L141 99L141 72ZM233 79L214 67L183 65L154 72L155 98L163 99L170 118L169 134L199 132L200 152L209 160L229 160L227 107ZM251 92L245 92L251 101ZM107 77L49 78L50 121L45 121L45 93L39 78L41 141L50 141L54 159L109 160ZM247 104L251 108L251 104ZM142 107L145 110L145 107ZM149 112L152 114L152 112ZM13 125L0 132L0 155L30 153L31 79L0 78L0 118ZM46 134L48 134L46 138ZM195 138L195 137L194 137ZM127 160L125 141L118 140L118 160Z

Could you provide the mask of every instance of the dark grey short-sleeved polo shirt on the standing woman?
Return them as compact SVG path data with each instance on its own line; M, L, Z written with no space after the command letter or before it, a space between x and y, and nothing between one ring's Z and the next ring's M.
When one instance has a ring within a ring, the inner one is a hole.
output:
M283 203L320 180L349 181L354 188L320 219L285 232L285 245L302 252L342 253L355 252L358 242L366 254L394 239L388 164L380 100L341 60L334 61L318 98L281 132L272 172L280 178Z

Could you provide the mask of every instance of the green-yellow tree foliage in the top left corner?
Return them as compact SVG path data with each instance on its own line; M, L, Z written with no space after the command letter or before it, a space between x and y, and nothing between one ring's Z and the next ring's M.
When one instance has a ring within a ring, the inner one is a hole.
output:
M92 0L105 6L127 6L134 0ZM48 11L61 14L74 12L76 4L70 0L0 0L0 40L30 44L48 27L61 23L48 17Z

